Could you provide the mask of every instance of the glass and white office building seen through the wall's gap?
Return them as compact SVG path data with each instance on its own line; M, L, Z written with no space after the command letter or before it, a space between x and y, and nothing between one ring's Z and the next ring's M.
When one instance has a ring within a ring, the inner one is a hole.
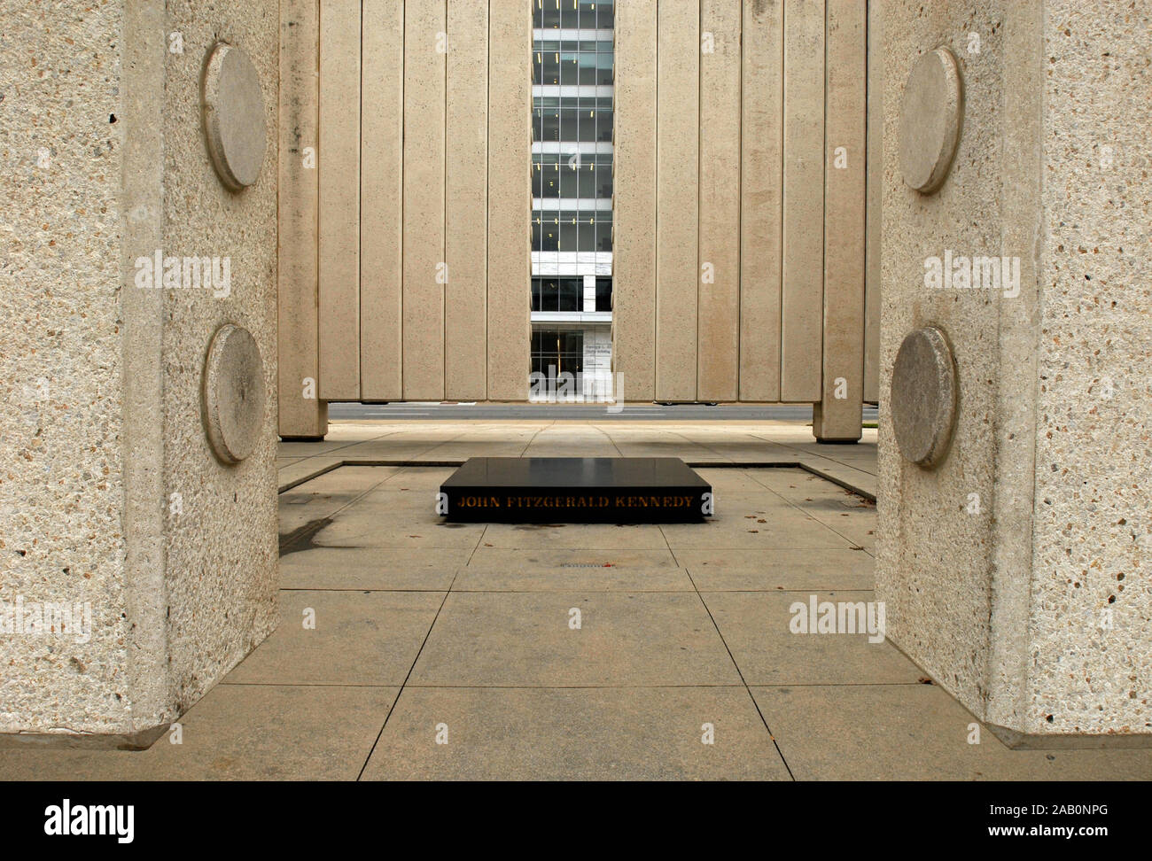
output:
M532 373L591 401L612 394L614 23L612 0L533 8Z

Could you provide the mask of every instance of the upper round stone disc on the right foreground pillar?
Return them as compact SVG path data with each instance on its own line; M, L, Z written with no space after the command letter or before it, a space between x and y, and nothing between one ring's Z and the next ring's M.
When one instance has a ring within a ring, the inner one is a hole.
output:
M960 64L946 47L930 51L912 67L900 108L900 172L904 183L929 195L952 167L964 117Z

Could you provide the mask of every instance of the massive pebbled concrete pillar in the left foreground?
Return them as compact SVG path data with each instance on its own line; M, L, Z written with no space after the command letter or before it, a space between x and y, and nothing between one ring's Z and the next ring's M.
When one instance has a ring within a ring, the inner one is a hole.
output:
M146 745L276 623L279 5L2 12L0 742Z

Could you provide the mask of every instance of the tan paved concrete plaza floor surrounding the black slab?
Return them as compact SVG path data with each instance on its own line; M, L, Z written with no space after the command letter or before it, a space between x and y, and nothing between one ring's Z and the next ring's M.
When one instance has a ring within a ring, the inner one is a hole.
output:
M0 779L1152 777L1150 749L970 744L972 716L890 643L790 631L810 595L873 601L876 508L829 480L874 490L865 433L404 421L283 444L280 628L182 744L5 749ZM473 455L682 457L717 516L442 524L439 464Z

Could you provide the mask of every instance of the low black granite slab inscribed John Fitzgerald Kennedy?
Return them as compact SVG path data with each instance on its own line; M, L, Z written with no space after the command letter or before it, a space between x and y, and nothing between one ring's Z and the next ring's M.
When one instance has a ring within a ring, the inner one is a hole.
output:
M679 457L473 457L440 485L437 513L467 523L685 523L712 486Z

